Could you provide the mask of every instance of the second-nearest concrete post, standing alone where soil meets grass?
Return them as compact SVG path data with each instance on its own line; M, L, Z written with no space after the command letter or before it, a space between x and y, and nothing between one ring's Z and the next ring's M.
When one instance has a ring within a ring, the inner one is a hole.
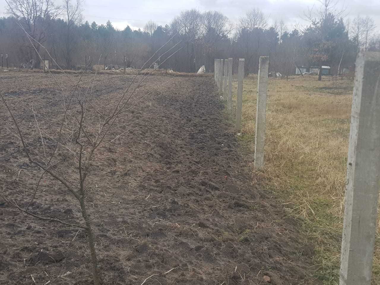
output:
M255 168L264 166L266 93L268 90L269 57L261 56L257 79L256 134L255 134Z

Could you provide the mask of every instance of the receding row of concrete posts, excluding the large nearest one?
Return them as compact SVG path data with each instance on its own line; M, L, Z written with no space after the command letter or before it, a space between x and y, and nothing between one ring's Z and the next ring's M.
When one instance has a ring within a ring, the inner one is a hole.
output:
M215 59L214 79L219 92L223 94L223 100L227 102L227 112L232 112L232 58ZM260 57L259 73L257 81L257 103L256 103L256 133L255 133L255 168L264 166L264 141L265 141L265 119L266 119L266 97L268 90L269 57ZM236 97L236 120L235 130L241 130L241 117L243 107L243 79L244 59L239 59L237 70L237 97Z

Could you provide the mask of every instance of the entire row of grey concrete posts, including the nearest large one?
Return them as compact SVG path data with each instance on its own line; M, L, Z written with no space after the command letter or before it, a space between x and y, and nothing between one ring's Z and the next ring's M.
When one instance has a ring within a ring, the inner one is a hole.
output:
M232 59L215 59L215 82L228 113L232 106ZM264 163L268 57L260 57L256 107L255 168ZM241 128L244 59L237 73L236 130ZM228 79L228 96L226 84ZM223 84L224 82L224 84ZM370 285L380 190L380 52L359 53L355 64L340 285Z

